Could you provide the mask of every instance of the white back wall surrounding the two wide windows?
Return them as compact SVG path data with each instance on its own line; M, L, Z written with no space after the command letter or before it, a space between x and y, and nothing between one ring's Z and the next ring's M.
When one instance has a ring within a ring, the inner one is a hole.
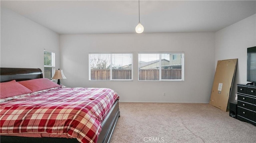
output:
M60 35L61 65L69 87L106 87L121 102L208 103L215 63L215 33ZM185 53L185 81L138 81L138 52ZM89 52L133 52L133 81L89 81ZM166 96L162 96L163 92Z

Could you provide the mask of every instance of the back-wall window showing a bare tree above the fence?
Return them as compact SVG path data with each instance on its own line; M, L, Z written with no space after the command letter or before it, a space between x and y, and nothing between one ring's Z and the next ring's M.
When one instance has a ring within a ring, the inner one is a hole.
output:
M89 80L132 80L132 53L90 53Z

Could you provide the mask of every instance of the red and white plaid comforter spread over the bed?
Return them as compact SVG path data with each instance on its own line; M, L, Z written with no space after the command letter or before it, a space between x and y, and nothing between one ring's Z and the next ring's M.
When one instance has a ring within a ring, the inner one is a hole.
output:
M58 88L0 104L0 135L77 138L96 143L119 98L108 88Z

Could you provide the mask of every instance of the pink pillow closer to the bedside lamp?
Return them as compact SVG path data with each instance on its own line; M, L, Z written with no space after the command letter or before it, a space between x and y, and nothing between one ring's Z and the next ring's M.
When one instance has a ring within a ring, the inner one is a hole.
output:
M59 84L56 84L55 82L52 82L48 78L37 78L32 80L24 80L19 81L18 83L22 84L26 88L30 89L32 92L37 92L40 90L45 90L49 88L54 88L61 86Z

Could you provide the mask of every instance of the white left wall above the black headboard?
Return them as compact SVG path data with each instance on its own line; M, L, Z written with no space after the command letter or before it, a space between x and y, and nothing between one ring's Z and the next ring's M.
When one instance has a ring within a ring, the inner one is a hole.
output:
M1 67L40 68L44 49L56 53L60 66L60 36L24 16L1 7Z

